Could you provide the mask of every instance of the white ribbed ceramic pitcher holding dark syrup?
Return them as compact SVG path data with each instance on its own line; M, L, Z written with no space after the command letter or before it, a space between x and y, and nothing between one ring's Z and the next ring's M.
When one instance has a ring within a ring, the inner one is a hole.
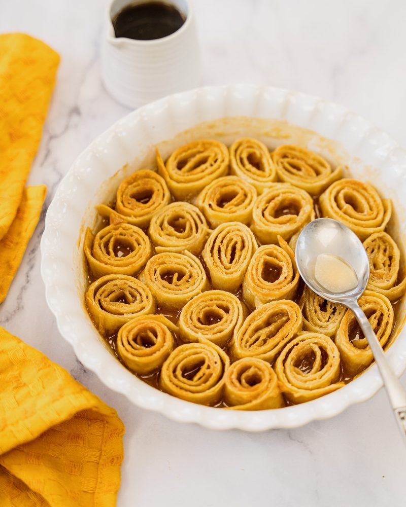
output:
M101 48L101 69L109 93L129 107L194 88L200 82L200 54L191 0L168 0L186 18L161 39L116 38L112 20L126 6L152 0L112 0Z

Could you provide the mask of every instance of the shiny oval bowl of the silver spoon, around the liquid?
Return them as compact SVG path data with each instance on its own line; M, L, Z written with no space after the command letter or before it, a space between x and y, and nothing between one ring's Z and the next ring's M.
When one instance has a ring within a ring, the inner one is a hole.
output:
M341 257L354 269L358 283L347 292L332 293L320 285L315 277L317 257L322 253ZM366 251L351 229L332 219L317 219L303 228L296 242L297 269L303 280L319 296L346 306L348 299L357 300L364 292L369 277Z

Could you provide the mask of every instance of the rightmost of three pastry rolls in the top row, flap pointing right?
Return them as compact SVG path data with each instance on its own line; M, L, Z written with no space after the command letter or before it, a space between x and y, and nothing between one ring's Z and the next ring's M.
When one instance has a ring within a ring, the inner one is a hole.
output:
M333 170L320 155L291 144L279 146L273 152L272 160L282 182L306 190L313 196L320 195L343 173L342 167Z

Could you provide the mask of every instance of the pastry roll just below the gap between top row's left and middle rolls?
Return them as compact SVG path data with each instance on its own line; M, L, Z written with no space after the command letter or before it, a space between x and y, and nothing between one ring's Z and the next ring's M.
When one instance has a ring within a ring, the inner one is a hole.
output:
M197 196L196 205L212 227L235 221L249 225L257 191L237 176L214 180Z

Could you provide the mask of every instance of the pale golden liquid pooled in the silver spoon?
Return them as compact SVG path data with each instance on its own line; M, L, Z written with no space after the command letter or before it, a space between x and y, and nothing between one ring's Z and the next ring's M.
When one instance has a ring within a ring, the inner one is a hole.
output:
M316 280L331 293L348 292L358 284L358 277L350 264L341 257L320 253L314 267Z

